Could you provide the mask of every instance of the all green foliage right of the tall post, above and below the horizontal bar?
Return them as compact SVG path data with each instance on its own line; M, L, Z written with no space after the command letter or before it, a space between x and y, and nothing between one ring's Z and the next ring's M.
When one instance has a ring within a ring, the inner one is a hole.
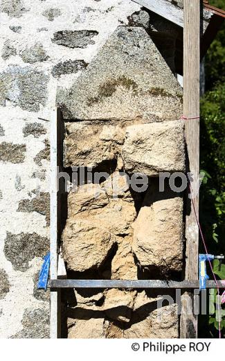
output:
M225 10L224 0L211 0L210 4ZM225 254L225 24L208 50L205 65L206 94L201 99L200 136L200 163L205 176L200 189L200 221L209 252ZM213 270L219 279L225 279L225 265L219 270L219 261L215 260ZM217 302L215 289L210 302L209 334L204 328L202 337L218 337ZM225 310L219 312L225 336Z

